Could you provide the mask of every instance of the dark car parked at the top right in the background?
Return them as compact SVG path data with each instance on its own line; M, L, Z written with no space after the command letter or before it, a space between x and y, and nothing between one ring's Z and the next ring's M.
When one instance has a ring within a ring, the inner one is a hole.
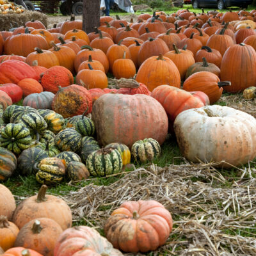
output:
M252 0L192 0L191 3L194 9L212 7L223 10L230 6L247 8L252 3Z

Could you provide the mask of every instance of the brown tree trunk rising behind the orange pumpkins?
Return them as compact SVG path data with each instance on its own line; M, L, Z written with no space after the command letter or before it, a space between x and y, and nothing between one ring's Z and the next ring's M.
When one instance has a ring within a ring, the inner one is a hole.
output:
M83 0L83 30L86 33L100 26L100 0Z

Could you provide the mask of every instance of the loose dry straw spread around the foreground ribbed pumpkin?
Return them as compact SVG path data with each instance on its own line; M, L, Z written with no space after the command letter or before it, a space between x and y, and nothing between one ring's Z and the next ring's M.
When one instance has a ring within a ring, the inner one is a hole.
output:
M236 172L228 187L212 164L152 164L122 173L109 186L90 184L64 199L74 220L86 220L98 230L122 202L161 202L172 213L174 227L166 244L150 255L256 255L256 170L249 166Z

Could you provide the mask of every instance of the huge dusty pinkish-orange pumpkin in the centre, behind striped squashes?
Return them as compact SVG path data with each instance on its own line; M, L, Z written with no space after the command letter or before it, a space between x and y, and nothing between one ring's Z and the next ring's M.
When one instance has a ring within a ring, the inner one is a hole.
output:
M93 105L92 120L97 141L104 146L120 142L131 148L135 141L145 138L162 144L168 130L168 118L161 104L143 94L102 95Z

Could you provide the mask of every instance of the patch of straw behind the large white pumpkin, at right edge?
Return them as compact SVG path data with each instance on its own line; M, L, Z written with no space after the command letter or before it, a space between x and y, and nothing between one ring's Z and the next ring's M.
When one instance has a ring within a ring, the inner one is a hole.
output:
M236 93L232 95L223 95L220 101L225 102L228 107L239 109L256 118L256 99L246 100L243 99L242 93Z

